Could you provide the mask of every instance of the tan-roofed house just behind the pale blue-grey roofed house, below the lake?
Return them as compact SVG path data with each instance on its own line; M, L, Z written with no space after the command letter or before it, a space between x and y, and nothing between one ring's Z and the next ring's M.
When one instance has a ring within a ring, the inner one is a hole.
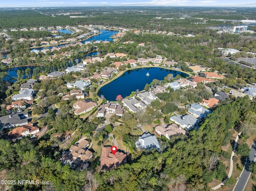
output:
M155 127L156 132L160 136L165 136L170 140L170 136L176 135L176 134L183 134L186 135L186 130L179 128L176 124L169 124L168 126L164 127L162 125L157 125Z

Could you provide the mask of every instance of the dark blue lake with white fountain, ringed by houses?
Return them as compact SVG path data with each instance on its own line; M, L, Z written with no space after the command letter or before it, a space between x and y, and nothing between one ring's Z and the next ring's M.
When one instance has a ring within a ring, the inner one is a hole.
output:
M149 75L146 75L147 73ZM122 97L125 98L126 96L129 96L132 91L136 91L136 89L142 91L145 85L147 83L150 84L153 79L163 80L168 74L173 74L173 77L176 77L177 74L182 77L188 76L180 71L158 67L131 69L114 81L100 88L98 96L104 95L109 101L116 100L117 95L122 95Z

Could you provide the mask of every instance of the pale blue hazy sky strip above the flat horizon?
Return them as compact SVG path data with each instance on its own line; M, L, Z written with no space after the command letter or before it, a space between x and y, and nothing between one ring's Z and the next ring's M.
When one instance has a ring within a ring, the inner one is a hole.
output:
M0 7L228 6L256 7L255 0L1 0Z

